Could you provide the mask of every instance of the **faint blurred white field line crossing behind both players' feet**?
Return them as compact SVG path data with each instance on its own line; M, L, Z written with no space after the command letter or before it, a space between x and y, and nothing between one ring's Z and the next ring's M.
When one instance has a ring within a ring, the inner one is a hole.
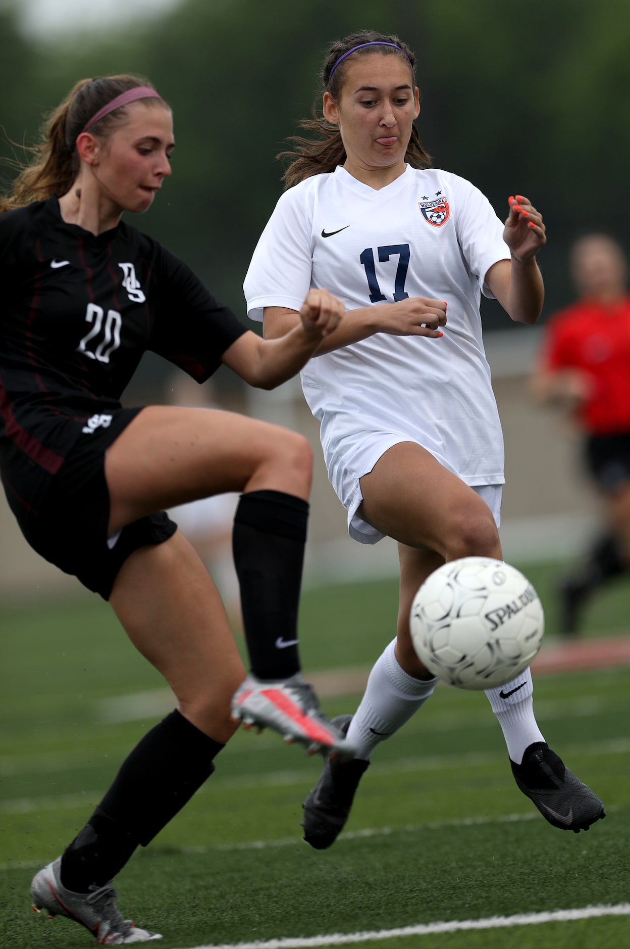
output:
M613 738L610 741L593 741L588 744L567 745L563 756L581 754L585 757L599 757L602 754L628 754L630 738ZM396 758L372 764L369 771L371 780L378 775L404 774L413 772L440 771L441 769L479 768L505 761L505 753L469 752L468 754L419 755L412 758ZM267 772L262 774L243 774L240 777L216 777L207 782L197 794L212 791L251 791L260 788L285 788L308 785L314 775L302 769L300 771ZM74 794L55 794L42 797L15 797L0 801L1 814L27 814L37 810L57 810L80 808L96 805L105 793L102 791L81 791Z

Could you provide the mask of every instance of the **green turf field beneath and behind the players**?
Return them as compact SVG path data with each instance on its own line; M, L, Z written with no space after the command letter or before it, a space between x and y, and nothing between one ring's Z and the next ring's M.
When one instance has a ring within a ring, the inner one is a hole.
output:
M555 570L526 568L547 600L551 633ZM369 665L392 635L395 609L389 581L307 591L307 671ZM621 585L591 610L585 635L596 635L596 624L627 628L628 617L630 591ZM155 721L114 721L112 702L162 680L96 597L5 605L0 622L0 944L89 946L80 927L31 912L28 884L81 828ZM123 870L120 908L162 932L164 949L189 949L626 902L629 692L630 669L537 680L549 744L608 810L581 834L551 828L516 789L482 694L439 688L380 746L345 836L325 852L303 844L299 828L318 759L276 735L238 734L189 806ZM352 711L357 698L323 704L335 715ZM629 925L626 916L363 944L590 949L627 944Z

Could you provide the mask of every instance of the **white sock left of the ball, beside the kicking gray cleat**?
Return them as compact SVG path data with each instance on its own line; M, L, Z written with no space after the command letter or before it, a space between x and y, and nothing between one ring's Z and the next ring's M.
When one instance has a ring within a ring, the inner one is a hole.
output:
M414 679L398 664L396 640L389 643L369 673L368 685L348 729L355 756L368 760L380 741L393 735L417 712L438 679Z

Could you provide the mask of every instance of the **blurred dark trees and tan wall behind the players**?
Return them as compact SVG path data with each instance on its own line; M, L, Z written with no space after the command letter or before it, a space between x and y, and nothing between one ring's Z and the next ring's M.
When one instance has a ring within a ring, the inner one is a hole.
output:
M630 5L622 0L0 0L0 154L19 158L11 142L36 140L45 112L79 78L150 77L171 103L177 148L171 179L136 223L244 320L243 276L281 191L275 156L319 99L331 40L356 28L397 32L415 49L420 135L437 167L473 181L500 216L515 193L544 213L543 324L575 297L567 251L576 236L610 233L627 251ZM3 175L7 182L7 164ZM489 301L482 315L506 440L506 558L567 558L597 512L579 438L531 399L540 328L511 325ZM125 400L172 400L173 387L171 366L148 356ZM220 370L212 400L298 428L318 445L297 381L261 393ZM366 549L347 537L320 454L307 581L393 574L392 544ZM27 549L4 496L0 561L3 599L79 589Z

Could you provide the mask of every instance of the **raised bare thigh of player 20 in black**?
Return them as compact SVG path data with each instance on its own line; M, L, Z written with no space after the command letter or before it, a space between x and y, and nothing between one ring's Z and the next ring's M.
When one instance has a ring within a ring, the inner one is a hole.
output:
M273 489L307 499L312 470L308 441L288 429L232 412L153 405L105 456L109 531L211 494Z

